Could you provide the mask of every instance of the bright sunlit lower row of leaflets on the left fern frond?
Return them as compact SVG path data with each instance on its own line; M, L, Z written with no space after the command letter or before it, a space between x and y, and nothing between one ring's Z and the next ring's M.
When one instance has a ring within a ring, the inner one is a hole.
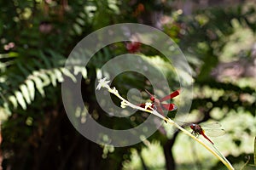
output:
M26 105L30 105L35 98L35 90L38 90L39 94L44 97L44 88L49 85L55 87L57 82L63 82L65 76L71 78L73 82L77 82L75 76L79 73L81 73L84 78L87 77L85 67L74 66L70 70L66 67L60 67L33 71L32 75L27 77L27 79L20 84L20 88L16 89L14 94L9 96L9 102L12 103L15 108L20 105L22 109L26 110Z

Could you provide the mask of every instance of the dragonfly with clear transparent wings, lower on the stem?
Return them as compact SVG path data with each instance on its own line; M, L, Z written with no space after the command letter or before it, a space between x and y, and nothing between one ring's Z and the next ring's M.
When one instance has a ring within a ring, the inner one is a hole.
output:
M219 128L221 127L221 124L219 124L218 122L209 123L205 125L205 127L208 127L208 128L203 129L199 124L195 124L195 123L192 123L190 125L190 128L193 130L192 134L194 134L195 136L199 136L201 134L211 144L214 144L214 143L212 142L211 139L207 137L207 135L212 137L218 137L218 136L224 135L225 133L224 129ZM205 130L207 131L207 135L205 133Z

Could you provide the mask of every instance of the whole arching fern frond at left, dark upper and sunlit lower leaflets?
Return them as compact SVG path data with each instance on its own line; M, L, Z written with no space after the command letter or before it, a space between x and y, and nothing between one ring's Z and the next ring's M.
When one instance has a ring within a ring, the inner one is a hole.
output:
M46 56L46 54L48 54ZM61 54L48 50L47 53L39 51L38 59L31 59L30 65L22 59L14 60L16 63L10 67L12 71L2 71L0 89L4 99L0 99L0 104L10 104L11 108L20 106L26 110L27 105L31 105L35 99L36 92L45 97L45 88L56 87L63 82L65 77L69 77L73 82L77 82L76 76L81 74L87 77L84 66L69 65L64 66L65 58ZM0 111L1 111L0 106ZM3 113L3 112L2 112ZM7 113L7 112L6 112ZM1 115L1 114L0 114ZM3 116L4 117L4 116ZM1 120L0 120L1 121Z

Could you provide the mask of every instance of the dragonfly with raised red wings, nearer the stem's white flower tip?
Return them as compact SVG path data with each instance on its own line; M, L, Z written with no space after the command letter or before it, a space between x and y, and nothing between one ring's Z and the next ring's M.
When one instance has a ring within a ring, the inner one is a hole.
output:
M152 107L160 112L160 114L162 116L165 116L164 114L164 111L163 111L163 108L166 110L166 111L174 111L177 109L177 106L174 105L174 104L163 104L162 102L163 101L166 101L167 99L172 99L172 98L175 98L178 94L180 94L180 90L176 90L174 92L172 92L172 94L169 94L169 95L166 95L166 97L162 98L162 99L157 99L155 98L155 96L153 94L150 94L148 92L148 90L145 90L147 92L147 94L150 95L150 100L152 101ZM141 107L144 107L145 104L142 104L140 105Z

